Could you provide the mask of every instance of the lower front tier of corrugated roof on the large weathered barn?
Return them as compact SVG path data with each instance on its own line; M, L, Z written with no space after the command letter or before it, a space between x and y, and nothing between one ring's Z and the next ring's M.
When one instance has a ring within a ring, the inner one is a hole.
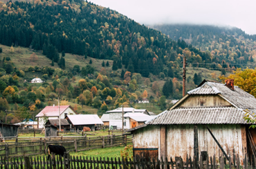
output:
M157 124L246 124L245 112L238 108L176 108L162 112L156 118L147 121Z

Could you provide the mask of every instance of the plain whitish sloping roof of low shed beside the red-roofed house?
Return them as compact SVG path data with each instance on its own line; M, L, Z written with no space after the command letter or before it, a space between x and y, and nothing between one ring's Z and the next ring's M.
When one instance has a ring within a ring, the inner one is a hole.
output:
M98 115L67 115L73 125L104 124Z

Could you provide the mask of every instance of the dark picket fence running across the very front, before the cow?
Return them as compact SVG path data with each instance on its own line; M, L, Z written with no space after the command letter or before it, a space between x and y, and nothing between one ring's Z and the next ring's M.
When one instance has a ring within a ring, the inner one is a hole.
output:
M230 162L228 162L230 161ZM225 157L199 157L199 160L186 158L185 161L181 157L175 157L172 159L163 160L159 159L140 159L139 157L133 159L120 159L118 157L113 159L105 159L98 157L75 157L70 156L68 153L64 155L64 158L52 155L50 160L46 157L24 157L23 158L9 158L1 157L1 168L37 168L37 169L52 169L52 168L74 168L74 169L251 169L255 168L255 157L252 160L248 160L247 157L243 159L243 165L239 163L239 155L234 159L226 159Z

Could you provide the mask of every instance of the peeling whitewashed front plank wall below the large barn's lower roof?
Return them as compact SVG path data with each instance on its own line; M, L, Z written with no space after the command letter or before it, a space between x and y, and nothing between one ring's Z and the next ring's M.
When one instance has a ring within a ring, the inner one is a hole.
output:
M134 132L134 148L159 148L159 157L161 153L166 153L167 157L179 157L183 159L187 155L194 157L194 125L167 125L165 137L160 126L147 126ZM240 159L244 159L247 152L246 146L246 128L236 124L212 124L208 125L214 137L219 141L221 147L233 157L233 152L239 154ZM166 141L161 141L161 138ZM205 126L198 125L199 155L201 151L207 151L209 156L223 156L219 146L214 141L210 132ZM166 152L164 152L165 143ZM162 148L162 150L160 150ZM243 163L243 161L241 161Z

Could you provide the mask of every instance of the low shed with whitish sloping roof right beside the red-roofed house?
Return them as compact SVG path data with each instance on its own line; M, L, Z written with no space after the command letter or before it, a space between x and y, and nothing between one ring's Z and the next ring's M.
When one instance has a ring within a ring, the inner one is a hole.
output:
M83 130L84 127L97 130L104 124L98 115L67 115L66 120L75 130Z

